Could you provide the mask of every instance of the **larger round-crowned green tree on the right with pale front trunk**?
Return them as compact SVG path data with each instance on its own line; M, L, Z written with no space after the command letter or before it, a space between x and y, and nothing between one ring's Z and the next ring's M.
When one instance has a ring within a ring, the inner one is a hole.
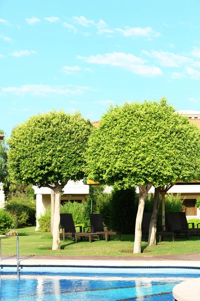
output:
M150 187L199 178L199 138L197 127L165 98L159 103L110 106L92 132L86 156L88 178L124 189L139 188L134 253L141 252L141 221ZM155 220L151 229L155 237Z

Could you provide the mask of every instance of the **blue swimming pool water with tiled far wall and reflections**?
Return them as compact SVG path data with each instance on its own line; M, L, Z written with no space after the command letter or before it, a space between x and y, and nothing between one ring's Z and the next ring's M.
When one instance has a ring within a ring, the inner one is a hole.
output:
M0 300L172 301L172 288L200 277L183 268L23 268L0 272Z

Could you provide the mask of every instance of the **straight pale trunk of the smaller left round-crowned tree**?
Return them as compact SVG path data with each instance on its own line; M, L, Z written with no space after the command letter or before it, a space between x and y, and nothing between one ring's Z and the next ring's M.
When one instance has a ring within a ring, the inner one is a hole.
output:
M59 240L59 221L60 221L60 197L61 197L61 186L57 185L54 190L55 192L55 207L54 207L54 220L53 220L53 244L52 250L60 250Z

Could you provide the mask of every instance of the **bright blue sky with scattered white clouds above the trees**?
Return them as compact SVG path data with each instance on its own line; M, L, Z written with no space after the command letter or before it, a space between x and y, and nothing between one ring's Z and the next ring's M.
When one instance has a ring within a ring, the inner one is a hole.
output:
M200 110L198 0L0 0L0 128L160 99Z

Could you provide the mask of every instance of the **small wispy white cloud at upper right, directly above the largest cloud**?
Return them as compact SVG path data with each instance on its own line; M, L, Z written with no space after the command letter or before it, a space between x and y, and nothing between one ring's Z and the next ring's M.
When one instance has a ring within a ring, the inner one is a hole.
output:
M120 32L124 37L159 37L160 33L157 33L152 27L129 27L126 26L125 30L115 28L115 31Z

